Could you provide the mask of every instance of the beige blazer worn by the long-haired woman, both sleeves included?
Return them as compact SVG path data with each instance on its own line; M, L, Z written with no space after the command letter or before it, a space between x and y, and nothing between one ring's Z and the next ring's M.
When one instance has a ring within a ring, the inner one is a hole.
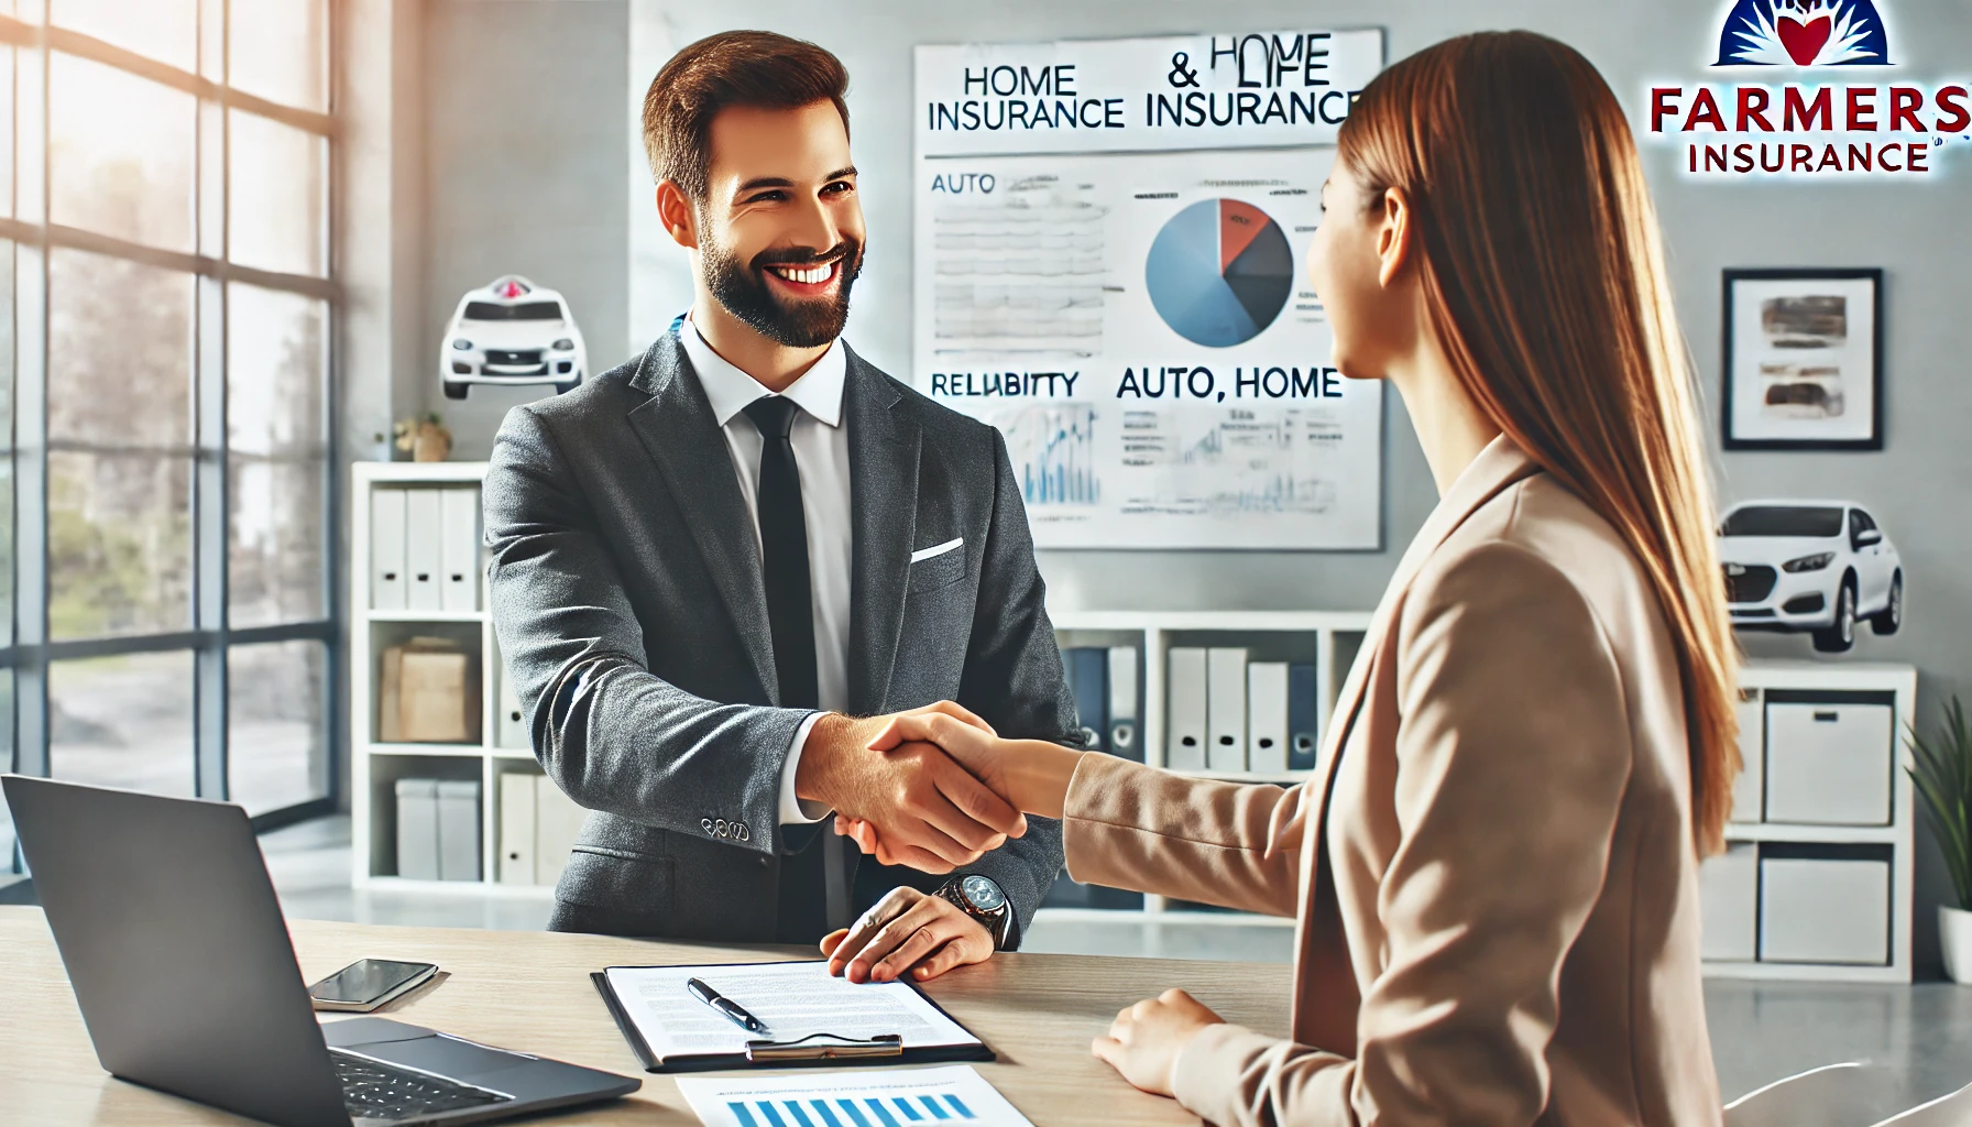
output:
M1398 564L1311 782L1083 756L1063 837L1077 880L1298 920L1292 1040L1177 1060L1211 1123L1720 1123L1668 630L1505 438Z

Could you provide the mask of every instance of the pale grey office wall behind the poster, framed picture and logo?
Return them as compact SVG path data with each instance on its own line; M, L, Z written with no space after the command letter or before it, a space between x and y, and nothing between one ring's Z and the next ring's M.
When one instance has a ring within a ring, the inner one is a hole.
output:
M1893 20L1899 77L1972 75L1972 6L1964 0L1879 6ZM633 105L670 49L726 28L809 38L848 65L870 219L870 264L848 338L907 375L915 43L1380 26L1396 59L1461 32L1530 28L1580 47L1635 109L1651 81L1704 77L1722 12L1714 0L430 0L426 332L440 332L463 288L507 268L570 292L598 367L641 347L684 308L682 253L667 251L643 223L649 174L633 142ZM501 103L499 91L515 85L528 89L527 101ZM1727 501L1842 495L1873 507L1903 549L1911 616L1897 638L1866 634L1858 657L1915 663L1927 726L1948 693L1972 697L1972 440L1964 434L1972 373L1956 336L1972 288L1972 162L1962 152L1946 156L1958 168L1933 184L1783 186L1688 182L1672 150L1647 156L1684 328L1714 399L1724 266L1885 270L1885 450L1722 456L1722 491ZM436 336L428 343L436 347ZM505 405L475 391L469 411L458 411L428 373L416 379L432 407L454 418L461 456L483 454ZM1436 503L1396 397L1386 450L1380 553L1043 553L1051 596L1057 606L1369 608ZM1747 647L1810 653L1804 638L1749 638ZM1927 967L1937 963L1931 904L1946 882L1935 855L1921 855L1919 864L1917 951Z

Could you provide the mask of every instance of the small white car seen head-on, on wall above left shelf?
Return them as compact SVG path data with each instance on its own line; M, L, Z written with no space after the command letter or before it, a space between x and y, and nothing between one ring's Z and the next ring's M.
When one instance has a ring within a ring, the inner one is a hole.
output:
M552 383L556 395L582 383L590 355L568 302L519 274L467 290L438 353L446 399L465 399L475 383Z

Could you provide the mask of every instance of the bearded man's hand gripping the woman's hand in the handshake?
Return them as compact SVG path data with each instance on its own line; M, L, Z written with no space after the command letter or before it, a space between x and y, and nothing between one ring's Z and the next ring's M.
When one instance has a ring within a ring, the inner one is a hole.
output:
M952 728L992 726L966 709L939 701L909 713L852 718L828 713L809 730L795 768L795 795L832 807L881 837L887 864L951 872L1027 833L1027 819L988 789L937 744L921 738L885 740L897 722L937 714Z

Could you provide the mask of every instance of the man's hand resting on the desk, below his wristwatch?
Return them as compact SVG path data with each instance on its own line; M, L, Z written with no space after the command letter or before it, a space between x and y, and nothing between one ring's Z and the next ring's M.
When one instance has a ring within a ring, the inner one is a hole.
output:
M852 983L929 981L992 957L992 934L945 896L891 888L852 928L822 936L828 973Z

